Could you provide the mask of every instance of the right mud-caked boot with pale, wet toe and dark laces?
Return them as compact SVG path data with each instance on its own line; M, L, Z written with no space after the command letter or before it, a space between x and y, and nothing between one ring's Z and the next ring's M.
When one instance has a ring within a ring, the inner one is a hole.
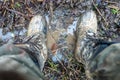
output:
M89 39L97 34L96 14L90 10L83 13L77 24L77 43L75 57L79 62L86 64L86 61L93 55L94 41Z

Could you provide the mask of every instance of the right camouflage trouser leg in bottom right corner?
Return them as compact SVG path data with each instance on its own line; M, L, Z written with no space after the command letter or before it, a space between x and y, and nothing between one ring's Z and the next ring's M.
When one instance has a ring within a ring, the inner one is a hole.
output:
M120 79L120 43L105 48L89 63L89 75L94 80Z

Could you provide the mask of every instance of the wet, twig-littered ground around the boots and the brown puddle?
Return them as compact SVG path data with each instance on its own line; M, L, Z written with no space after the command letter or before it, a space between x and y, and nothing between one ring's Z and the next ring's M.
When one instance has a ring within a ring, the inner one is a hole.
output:
M46 18L49 36L53 35L52 38L56 37L52 32L58 30L56 33L59 33L61 28L65 30L65 34L75 35L78 18L89 9L97 14L99 37L119 42L119 0L0 0L0 41L4 44L10 39L25 37L28 24L36 14L42 14ZM51 37L48 38L52 41ZM53 39L52 42L57 41ZM51 50L56 49L56 46L52 47ZM48 59L43 71L45 77L48 80L85 80L84 66L78 63L73 55L67 55L67 63L55 63L55 57ZM58 56L62 57L59 54Z

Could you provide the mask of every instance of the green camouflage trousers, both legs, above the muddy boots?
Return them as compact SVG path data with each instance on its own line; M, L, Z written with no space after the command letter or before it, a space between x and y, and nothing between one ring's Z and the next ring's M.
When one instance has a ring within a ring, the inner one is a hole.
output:
M28 80L44 79L42 72L28 53L11 43L0 47L0 73L9 70L27 76ZM89 76L94 80L119 80L120 44L112 44L105 48L89 63L88 70Z

